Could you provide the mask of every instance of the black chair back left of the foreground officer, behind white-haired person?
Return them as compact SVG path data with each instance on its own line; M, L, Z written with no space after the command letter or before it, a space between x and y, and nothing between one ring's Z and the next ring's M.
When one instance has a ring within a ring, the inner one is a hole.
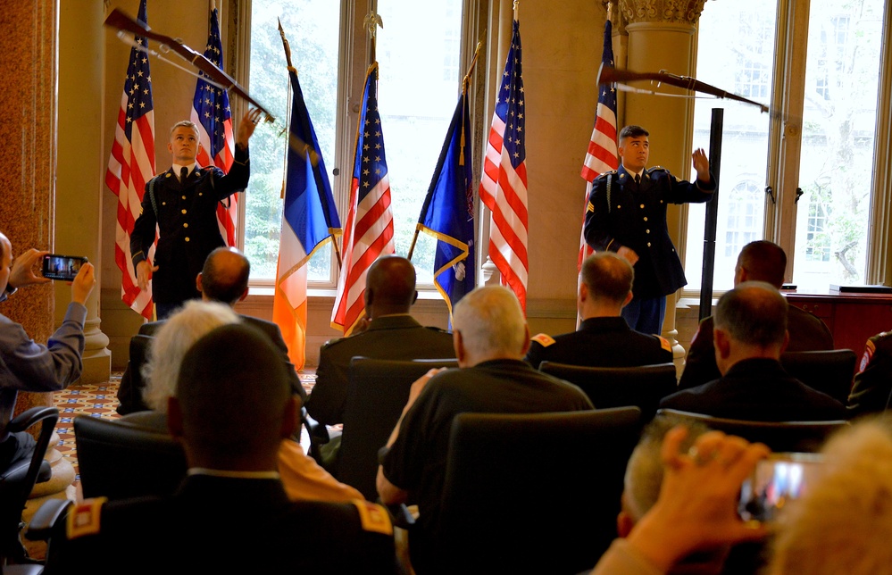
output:
M167 434L79 416L74 438L84 497L167 496L186 477L186 455Z

